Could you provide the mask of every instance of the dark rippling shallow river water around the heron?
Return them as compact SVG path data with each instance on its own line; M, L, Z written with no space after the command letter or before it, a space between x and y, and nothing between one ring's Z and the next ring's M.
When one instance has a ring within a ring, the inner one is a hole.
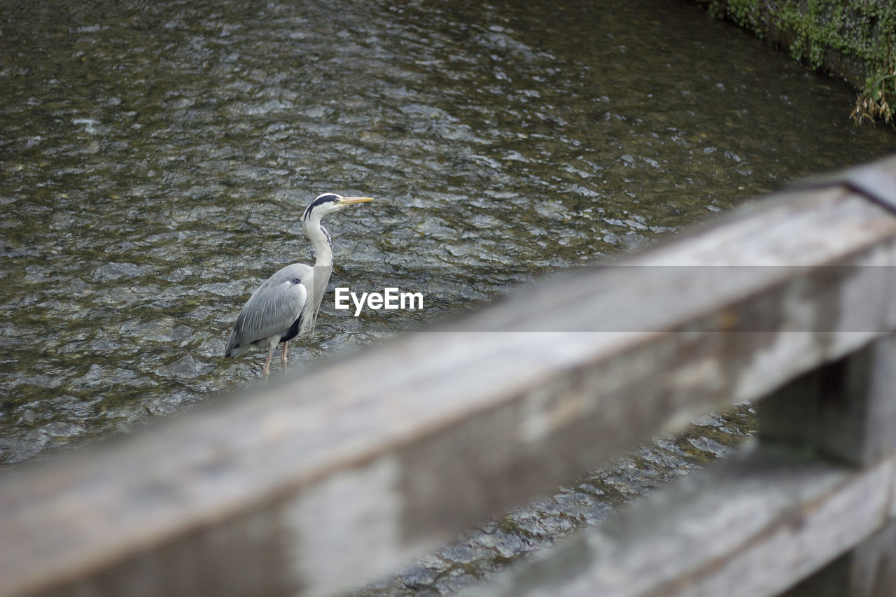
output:
M0 18L7 466L252 383L263 355L224 359L229 327L313 260L298 221L320 192L376 198L328 221L332 284L426 302L355 318L329 295L296 368L896 151L849 123L848 87L689 3L7 0ZM742 418L688 445L711 457ZM686 470L679 452L625 483ZM382 590L478 574L440 569Z

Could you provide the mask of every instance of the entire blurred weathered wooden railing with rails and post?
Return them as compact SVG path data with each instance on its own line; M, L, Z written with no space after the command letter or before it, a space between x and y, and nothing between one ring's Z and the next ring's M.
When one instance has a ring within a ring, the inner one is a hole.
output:
M761 399L754 446L471 592L892 594L892 195L896 159L4 472L0 595L332 594Z

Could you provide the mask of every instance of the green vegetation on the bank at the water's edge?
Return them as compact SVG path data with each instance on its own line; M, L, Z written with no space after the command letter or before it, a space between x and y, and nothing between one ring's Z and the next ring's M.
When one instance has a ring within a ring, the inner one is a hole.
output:
M896 3L892 0L697 0L762 38L790 48L813 68L840 56L866 76L852 117L896 126ZM838 56L839 55L839 56Z

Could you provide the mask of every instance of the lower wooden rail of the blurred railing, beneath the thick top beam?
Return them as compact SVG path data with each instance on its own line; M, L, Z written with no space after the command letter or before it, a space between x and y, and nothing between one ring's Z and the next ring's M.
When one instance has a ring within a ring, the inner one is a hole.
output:
M893 471L754 446L465 594L775 595L883 528Z

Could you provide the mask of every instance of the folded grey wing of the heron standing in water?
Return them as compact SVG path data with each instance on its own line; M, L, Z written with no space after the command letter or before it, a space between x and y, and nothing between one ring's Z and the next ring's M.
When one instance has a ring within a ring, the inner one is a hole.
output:
M307 290L299 277L289 276L288 270L289 267L283 268L272 275L249 297L228 338L228 356L238 354L234 351L253 342L285 333L302 313Z

